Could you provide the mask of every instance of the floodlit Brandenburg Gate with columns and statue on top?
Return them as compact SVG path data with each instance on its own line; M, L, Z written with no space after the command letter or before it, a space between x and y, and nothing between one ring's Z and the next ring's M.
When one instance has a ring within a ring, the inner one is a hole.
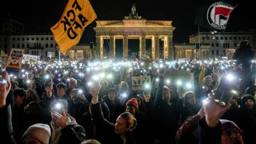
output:
M146 52L146 39L152 40L152 58L159 60L159 40L164 41L164 58L173 60L173 28L172 21L145 20L136 13L135 5L132 12L123 20L97 20L95 58L103 58L104 39L109 40L109 49L115 58L115 41L123 40L123 57L128 58L128 40L140 40L140 58Z

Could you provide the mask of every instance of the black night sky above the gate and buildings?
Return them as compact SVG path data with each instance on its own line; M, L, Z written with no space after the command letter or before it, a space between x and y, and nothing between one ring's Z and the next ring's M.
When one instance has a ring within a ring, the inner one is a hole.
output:
M26 33L50 32L51 26L60 19L68 0L43 0L43 1L12 1L1 4L1 16L8 15L25 25ZM173 42L188 42L189 35L197 31L195 26L196 8L211 0L198 1L131 1L131 0L90 0L99 20L122 20L131 12L132 3L136 3L136 10L147 20L173 20L176 28L173 33ZM226 0L233 6L238 4L228 21L226 31L241 31L256 28L256 8L251 1ZM10 4L12 3L12 4ZM93 27L90 24L84 31L82 42L94 40Z

